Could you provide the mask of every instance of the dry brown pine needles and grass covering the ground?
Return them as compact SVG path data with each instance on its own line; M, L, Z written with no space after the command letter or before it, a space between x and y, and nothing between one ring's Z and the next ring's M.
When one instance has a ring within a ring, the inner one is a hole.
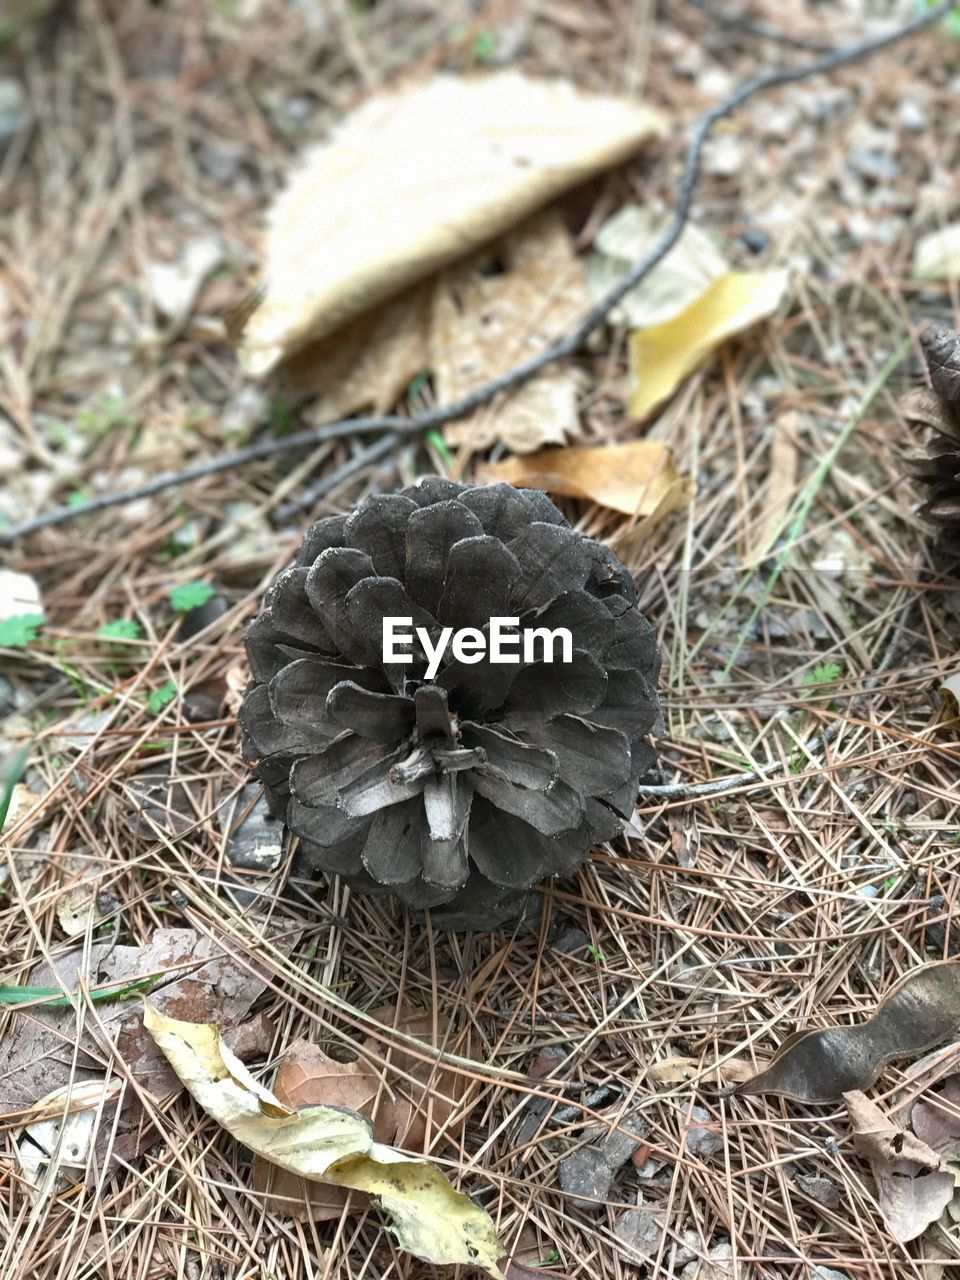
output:
M832 35L856 36L865 8L835 6ZM820 35L806 6L751 9ZM896 9L902 17L909 5ZM428 0L369 9L332 0L323 20L320 12L280 0L90 0L56 10L6 51L33 118L0 168L3 410L18 453L4 502L29 511L70 490L123 486L248 430L229 349L189 328L157 332L147 264L175 257L197 228L215 228L228 271L206 285L197 311L215 316L238 301L260 215L294 152L378 84L468 65L476 36L493 31L524 65L600 88L645 84L687 120L714 92L707 73L739 78L762 58L794 56L682 6L654 26L650 5L626 0L490 3L480 13ZM42 795L8 840L4 980L22 983L42 957L100 936L91 916L86 938L68 941L56 915L81 870L95 869L115 904L110 936L146 943L160 925L188 924L241 963L266 964L270 986L256 1007L275 1027L257 1066L268 1078L300 1034L346 1044L369 1032L366 1010L413 1004L448 1018L442 1047L468 1082L467 1125L452 1146L436 1135L433 1151L527 1263L591 1280L680 1275L686 1236L700 1256L732 1245L728 1270L703 1267L699 1280L812 1280L823 1275L817 1265L849 1280L934 1275L924 1266L937 1256L929 1239L901 1247L886 1234L841 1110L722 1101L717 1084L728 1059L762 1061L797 1027L854 1020L910 965L955 950L957 745L938 724L937 689L957 666L957 596L925 568L915 495L901 480L902 372L879 389L829 472L817 472L900 342L924 317L956 319L956 291L919 291L909 266L916 236L956 202L959 69L960 41L919 40L838 77L849 93L840 125L813 118L817 95L835 92L826 84L756 104L732 125L745 143L742 169L708 172L701 187L701 224L765 228L777 253L803 269L788 311L694 376L655 425L700 492L689 518L658 529L635 554L667 657L667 777L767 765L764 781L695 803L645 804L644 840L594 852L577 881L545 888L541 910L512 936L435 933L390 904L283 877L261 884L256 911L237 909L224 890L221 819L247 782L233 721L241 635L298 540L292 527L270 534L269 515L348 456L351 445L337 443L17 548L10 563L42 584L50 626L41 644L4 657L18 704L0 728L8 745L36 735L27 780ZM927 115L913 133L897 114L904 93ZM787 109L796 120L785 124ZM850 147L869 147L856 141L867 127L900 140L901 174L888 186L849 168ZM588 228L623 198L669 200L678 134L588 193ZM228 182L201 160L211 143L242 157ZM869 225L884 221L886 238L873 239ZM733 251L749 261L742 246ZM628 436L622 335L582 364L589 438ZM59 422L74 426L64 434ZM282 412L270 426L283 426ZM814 500L764 603L771 561L755 575L742 566L771 499L774 430L788 433L799 484L813 486ZM425 466L404 445L316 513ZM599 508L566 509L591 534L626 531ZM818 568L824 558L840 571ZM166 593L198 577L218 585L228 612L182 640ZM99 628L118 617L138 620L143 639L105 645ZM829 663L835 684L805 681ZM147 695L168 681L177 696L151 712ZM147 813L132 791L143 774L170 786ZM264 946L268 924L298 936L289 961ZM572 954L554 945L571 929L589 943ZM27 1016L5 1015L3 1038L18 1036ZM547 1050L559 1056L538 1082L529 1073ZM675 1055L696 1062L695 1080L649 1083L650 1065ZM954 1061L946 1053L941 1065ZM890 1068L878 1088L887 1094L902 1079ZM616 1115L612 1105L649 1120L650 1162L621 1172L618 1203L585 1211L558 1190L557 1164L598 1110ZM722 1138L713 1153L689 1149L694 1105ZM134 1162L93 1170L40 1206L8 1146L0 1274L429 1274L393 1249L372 1211L317 1226L265 1213L248 1153L186 1096L150 1100L148 1116L150 1146ZM838 1207L814 1199L797 1174L832 1179ZM637 1192L667 1228L645 1271L613 1247ZM943 1247L960 1258L955 1238Z

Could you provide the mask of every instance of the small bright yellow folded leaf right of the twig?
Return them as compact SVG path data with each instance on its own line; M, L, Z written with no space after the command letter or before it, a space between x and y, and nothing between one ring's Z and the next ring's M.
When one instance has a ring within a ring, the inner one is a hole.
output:
M727 271L680 315L630 335L630 412L646 417L727 338L780 306L786 271Z

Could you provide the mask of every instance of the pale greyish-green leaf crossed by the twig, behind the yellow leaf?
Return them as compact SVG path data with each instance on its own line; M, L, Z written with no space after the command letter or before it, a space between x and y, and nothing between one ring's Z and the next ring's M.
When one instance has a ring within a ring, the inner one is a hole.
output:
M605 293L658 243L666 219L627 205L596 233L586 264L590 294L599 302ZM612 324L645 329L672 319L728 270L713 237L687 223L680 239L646 278L617 303Z

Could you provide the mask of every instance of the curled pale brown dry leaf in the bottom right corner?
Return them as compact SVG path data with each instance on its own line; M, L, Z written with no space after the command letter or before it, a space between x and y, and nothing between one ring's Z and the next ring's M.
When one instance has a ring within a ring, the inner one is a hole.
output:
M869 1161L877 1180L877 1201L887 1230L897 1240L914 1240L954 1198L954 1170L863 1093L845 1092L844 1102L854 1146Z

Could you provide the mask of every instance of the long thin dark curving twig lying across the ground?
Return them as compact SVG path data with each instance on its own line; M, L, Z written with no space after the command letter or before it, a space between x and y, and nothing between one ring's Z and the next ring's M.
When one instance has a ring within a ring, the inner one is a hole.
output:
M737 110L737 108L742 106L756 93L765 92L771 88L782 88L785 84L795 84L799 81L809 79L812 76L820 76L827 72L836 70L838 67L846 67L850 63L859 61L863 58L869 58L884 49L890 49L901 40L906 40L916 32L923 31L925 27L940 22L941 18L945 18L955 8L955 4L956 0L941 0L941 4L929 9L920 17L914 18L911 22L905 23L905 26L899 27L896 31L887 32L883 36L877 36L873 40L861 41L856 45L847 45L841 49L831 50L828 54L824 54L813 61L804 63L800 67L787 67L781 70L765 72L762 76L755 76L751 79L745 81L739 88L735 88L727 97L717 102L717 105L710 108L710 110L704 115L699 116L687 145L684 173L680 180L677 205L673 218L669 227L650 252L636 262L635 266L631 268L631 270L627 271L626 275L623 275L620 282L614 284L613 288L594 307L591 307L590 311L588 311L586 316L575 329L571 330L571 333L566 335L566 338L561 338L559 342L556 342L552 347L547 347L530 360L525 360L520 365L515 365L515 367L507 372L500 374L497 378L492 378L490 381L475 388L467 396L461 397L452 404L443 408L430 410L426 413L421 413L419 417L412 419L398 417L396 415L355 417L338 422L329 422L325 426L308 428L303 431L294 431L292 435L283 436L283 439L260 440L257 444L251 444L244 449L237 449L234 453L223 454L219 458L210 460L209 462L201 462L195 467L186 467L182 471L168 471L156 476L154 480L150 480L147 484L140 485L136 489L128 489L125 493L102 494L99 498L92 498L90 502L78 503L76 507L59 507L55 511L47 512L45 516L37 516L36 518L27 520L20 525L13 525L10 529L0 531L0 545L8 545L17 538L23 538L27 534L36 532L38 529L49 529L51 525L64 524L77 516L86 516L96 511L104 511L108 507L118 507L123 503L136 502L140 498L148 498L152 494L161 493L164 489L172 489L175 485L186 484L189 480L200 480L205 476L216 475L220 471L229 471L246 462L255 462L260 458L271 457L275 453L285 453L289 449L301 447L312 448L321 444L324 440L340 439L348 435L361 435L369 431L388 431L390 433L388 439L396 440L399 436L421 435L425 431L445 426L448 422L466 417L466 415L472 413L474 410L480 408L483 404L488 404L492 399L494 399L494 397L518 387L521 383L526 381L527 378L531 378L547 365L552 365L557 360L575 355L582 347L586 338L589 338L590 334L603 324L609 312L617 306L623 296L645 279L645 276L649 275L649 273L667 256L667 253L669 253L680 239L680 236L690 218L690 207L692 205L694 192L696 191L696 184L700 177L700 159L704 143L713 132L713 127L719 120L731 115ZM384 452L387 452L385 444ZM326 477L324 485L320 486L320 492L329 492L332 488L340 484L343 479L344 468L340 467Z

